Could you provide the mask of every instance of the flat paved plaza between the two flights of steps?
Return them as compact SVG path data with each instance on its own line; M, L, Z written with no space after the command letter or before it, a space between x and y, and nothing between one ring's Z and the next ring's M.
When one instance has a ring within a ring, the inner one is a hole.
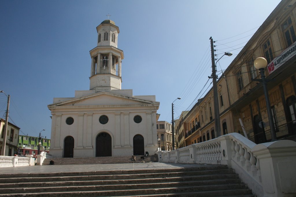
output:
M88 171L114 171L114 170L141 170L141 169L168 169L198 167L207 164L180 164L180 163L127 163L127 164L89 164L89 165L43 165L43 166L21 166L0 167L0 174L18 173L48 173L48 172L88 172Z

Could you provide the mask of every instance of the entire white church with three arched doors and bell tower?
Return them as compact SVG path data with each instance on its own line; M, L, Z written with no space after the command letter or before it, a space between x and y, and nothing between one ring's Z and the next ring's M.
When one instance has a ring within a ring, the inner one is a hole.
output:
M75 97L54 98L51 147L53 157L106 157L157 152L155 95L133 96L121 89L123 51L119 28L112 20L98 27L97 46L90 51L89 90Z

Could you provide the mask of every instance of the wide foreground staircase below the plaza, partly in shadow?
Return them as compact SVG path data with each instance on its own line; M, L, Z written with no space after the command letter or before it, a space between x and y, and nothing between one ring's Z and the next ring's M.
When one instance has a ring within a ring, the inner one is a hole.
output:
M52 166L55 167L55 166ZM255 197L226 165L0 175L0 197Z

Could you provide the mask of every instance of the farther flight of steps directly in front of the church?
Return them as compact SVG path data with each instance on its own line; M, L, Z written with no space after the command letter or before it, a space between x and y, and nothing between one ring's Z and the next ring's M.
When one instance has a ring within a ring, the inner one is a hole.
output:
M139 162L158 162L157 155L149 155L141 160L141 156L136 156L136 163ZM131 156L119 157L81 157L81 158L51 158L44 159L42 165L49 165L53 160L55 165L80 165L80 164L116 164L116 163L135 163L132 161Z

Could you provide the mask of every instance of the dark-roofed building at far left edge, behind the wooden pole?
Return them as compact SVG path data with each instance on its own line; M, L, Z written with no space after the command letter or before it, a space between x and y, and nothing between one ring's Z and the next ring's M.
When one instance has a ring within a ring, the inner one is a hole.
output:
M5 129L5 120L1 118L0 120L0 153L3 148L3 137ZM17 138L19 135L20 128L14 124L8 122L7 136L6 136L6 146L5 146L5 156L13 156L17 153Z

